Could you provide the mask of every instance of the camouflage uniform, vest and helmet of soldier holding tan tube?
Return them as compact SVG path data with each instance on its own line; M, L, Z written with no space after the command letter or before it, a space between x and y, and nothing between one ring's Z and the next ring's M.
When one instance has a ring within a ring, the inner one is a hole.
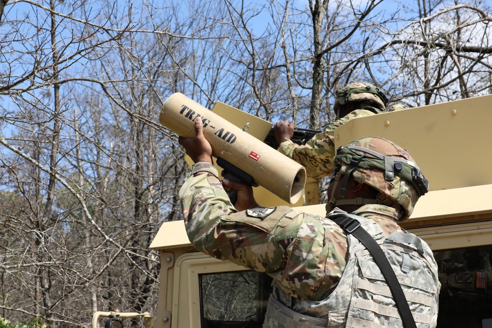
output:
M368 139L353 144L359 148L376 145L376 149L382 149L380 138ZM395 153L392 145L383 142L383 146L388 146L383 148L387 157ZM354 172L353 161L348 158L350 151L352 148L347 147L337 155L335 163L341 172L354 175L354 179L362 179L361 173L365 172L372 178L364 183L372 186L383 183L376 181L379 178L371 168L377 158L368 155L361 162L365 167L356 167ZM372 150L368 151L371 154ZM402 158L411 159L404 149L398 151ZM410 215L419 197L415 193L405 196L405 192L414 188L403 180L410 167L407 162L411 163L407 159L398 162L404 167L396 172L393 183L388 183L395 192L385 191L387 198L374 202L381 204L363 205L352 214L360 216L365 229L388 250L385 254L402 279L402 288L419 327L435 327L437 266L429 247L414 235L402 234L397 223ZM343 186L344 181L338 179ZM266 272L273 278L274 290L264 327L401 327L391 293L388 294L385 280L368 251L353 236L347 238L329 219L331 214L325 218L282 206L238 212L222 188L215 167L206 162L192 167L179 196L188 238L198 250ZM398 204L392 204L391 200ZM424 246L401 243L396 235L412 236L412 240L418 241L415 244ZM386 239L392 238L397 239L396 244L386 245Z

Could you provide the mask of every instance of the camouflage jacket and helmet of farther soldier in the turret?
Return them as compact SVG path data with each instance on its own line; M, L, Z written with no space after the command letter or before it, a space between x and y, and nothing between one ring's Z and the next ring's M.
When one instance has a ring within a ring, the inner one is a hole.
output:
M387 99L383 101L382 97L385 96L378 88L364 82L355 82L337 90L333 106L334 111L337 111L340 106L354 101L368 101L374 107L366 106L363 109L354 110L331 122L306 145L297 145L290 140L285 140L280 144L278 150L306 167L308 177L318 179L331 175L334 170L332 160L335 157L335 129L352 119L384 112Z

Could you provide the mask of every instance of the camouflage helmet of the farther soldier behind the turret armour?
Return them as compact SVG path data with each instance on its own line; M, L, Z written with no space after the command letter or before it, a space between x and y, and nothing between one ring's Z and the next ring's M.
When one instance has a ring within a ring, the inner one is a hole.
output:
M337 112L340 105L344 105L351 101L370 101L380 112L386 110L388 98L381 89L373 86L370 83L354 82L346 85L343 89L335 92L335 104L333 110Z

